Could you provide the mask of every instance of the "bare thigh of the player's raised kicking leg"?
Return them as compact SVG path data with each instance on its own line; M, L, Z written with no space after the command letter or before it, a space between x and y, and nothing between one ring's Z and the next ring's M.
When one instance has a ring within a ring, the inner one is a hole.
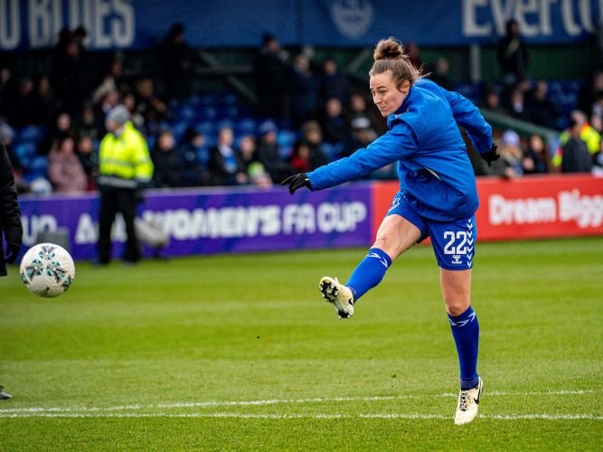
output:
M392 214L383 219L372 246L385 251L393 260L420 239L421 231L416 225L401 215Z

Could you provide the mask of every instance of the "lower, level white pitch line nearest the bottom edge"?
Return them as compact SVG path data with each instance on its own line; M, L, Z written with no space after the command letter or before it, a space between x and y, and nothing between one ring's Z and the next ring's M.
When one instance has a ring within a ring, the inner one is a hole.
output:
M452 420L453 417L441 414L403 414L403 413L374 413L374 414L277 414L277 413L7 413L0 414L0 419L18 418L232 418L232 419L437 419ZM479 415L480 419L495 420L603 420L603 415L597 414L500 414Z

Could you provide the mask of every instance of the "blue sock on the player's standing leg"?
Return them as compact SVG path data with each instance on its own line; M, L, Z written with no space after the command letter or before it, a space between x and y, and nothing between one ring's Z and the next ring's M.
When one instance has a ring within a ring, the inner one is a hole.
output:
M477 348L479 324L473 308L457 317L448 314L452 336L457 344L458 364L461 371L461 389L468 390L477 385Z

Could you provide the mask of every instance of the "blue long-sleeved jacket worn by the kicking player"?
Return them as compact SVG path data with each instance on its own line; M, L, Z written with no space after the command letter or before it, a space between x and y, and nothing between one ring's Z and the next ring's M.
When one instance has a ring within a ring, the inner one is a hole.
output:
M417 80L396 112L389 130L349 157L307 174L312 190L362 178L398 162L400 193L425 218L451 221L476 212L476 177L457 124L484 154L492 146L492 127L479 110L456 92L431 80Z

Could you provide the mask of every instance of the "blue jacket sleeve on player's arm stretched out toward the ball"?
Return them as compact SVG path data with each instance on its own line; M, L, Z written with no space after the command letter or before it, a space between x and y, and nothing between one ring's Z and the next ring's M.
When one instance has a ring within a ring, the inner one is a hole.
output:
M355 181L385 165L414 154L417 151L417 142L417 134L412 127L397 120L392 123L391 130L369 146L306 175L313 191Z

